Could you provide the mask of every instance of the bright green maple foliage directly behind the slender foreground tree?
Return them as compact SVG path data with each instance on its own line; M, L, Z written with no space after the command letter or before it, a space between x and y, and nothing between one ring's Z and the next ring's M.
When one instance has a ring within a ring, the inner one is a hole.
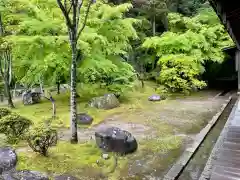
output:
M13 14L22 13L17 35L8 41L14 45L17 80L28 85L39 83L39 79L53 85L60 76L68 80L71 51L65 20L55 0L15 1L22 6ZM83 11L85 6L83 4ZM110 6L102 1L91 7L78 43L82 53L78 65L80 82L98 82L106 86L116 83L120 89L131 84L134 70L120 58L131 49L130 40L138 38L133 25L140 21L124 16L131 8L131 4Z

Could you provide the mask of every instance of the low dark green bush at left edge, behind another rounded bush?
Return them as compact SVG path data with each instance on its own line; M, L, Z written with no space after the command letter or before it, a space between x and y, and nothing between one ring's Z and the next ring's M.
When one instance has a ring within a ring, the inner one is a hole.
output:
M7 136L9 143L15 144L24 137L31 124L31 120L11 113L0 120L0 133Z

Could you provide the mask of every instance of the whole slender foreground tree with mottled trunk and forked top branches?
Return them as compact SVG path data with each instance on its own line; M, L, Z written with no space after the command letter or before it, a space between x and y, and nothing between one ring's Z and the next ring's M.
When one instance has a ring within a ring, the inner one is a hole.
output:
M89 0L87 10L84 18L81 18L81 10L84 0L57 0L57 4L62 11L68 29L69 43L72 50L71 61L71 142L78 142L77 135L77 59L81 57L82 53L77 48L78 39L84 30L89 14L90 7L94 0ZM79 21L83 20L82 25L79 26Z

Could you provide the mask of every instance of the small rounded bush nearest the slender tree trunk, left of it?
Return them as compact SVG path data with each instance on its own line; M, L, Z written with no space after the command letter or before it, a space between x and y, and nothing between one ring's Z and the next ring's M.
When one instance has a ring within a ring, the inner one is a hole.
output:
M57 140L57 131L45 124L33 127L27 135L28 145L43 156L47 156L49 147L56 145Z

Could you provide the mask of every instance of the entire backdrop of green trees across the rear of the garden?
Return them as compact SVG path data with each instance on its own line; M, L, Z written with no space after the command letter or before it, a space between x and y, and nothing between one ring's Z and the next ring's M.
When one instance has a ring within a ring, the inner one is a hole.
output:
M76 84L80 96L83 89L124 93L137 78L142 87L145 79L155 79L167 91L189 93L207 85L201 80L204 63L221 63L222 48L233 44L204 0L66 1L67 16L76 21L59 2L1 1L7 96L12 79L27 88L68 83L76 115Z

